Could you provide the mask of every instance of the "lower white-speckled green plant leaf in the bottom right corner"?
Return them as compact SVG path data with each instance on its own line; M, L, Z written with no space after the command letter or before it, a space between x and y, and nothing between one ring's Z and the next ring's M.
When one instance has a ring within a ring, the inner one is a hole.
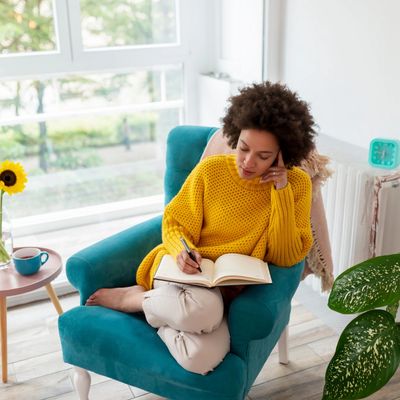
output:
M359 315L343 330L325 374L323 400L362 399L384 386L400 363L400 327L387 311Z

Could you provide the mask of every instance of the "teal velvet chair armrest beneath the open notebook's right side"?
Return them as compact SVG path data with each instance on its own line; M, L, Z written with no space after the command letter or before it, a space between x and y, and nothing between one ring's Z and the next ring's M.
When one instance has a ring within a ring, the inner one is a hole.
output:
M267 337L275 323L290 310L299 286L304 261L290 268L269 265L272 283L249 286L231 304L228 315L231 349L244 356L248 343Z

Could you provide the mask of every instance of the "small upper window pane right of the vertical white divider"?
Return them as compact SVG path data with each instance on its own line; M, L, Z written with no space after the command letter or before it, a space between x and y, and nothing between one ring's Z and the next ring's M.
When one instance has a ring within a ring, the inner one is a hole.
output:
M175 0L81 0L80 7L85 48L177 42Z

